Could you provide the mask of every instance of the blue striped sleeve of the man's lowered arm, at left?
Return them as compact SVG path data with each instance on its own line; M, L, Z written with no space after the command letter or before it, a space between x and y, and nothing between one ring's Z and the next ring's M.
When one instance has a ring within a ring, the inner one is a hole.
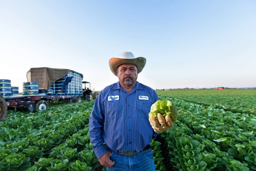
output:
M102 93L96 98L92 113L89 117L90 141L94 146L93 151L98 159L107 152L107 148L103 144L104 113L101 106L101 96Z

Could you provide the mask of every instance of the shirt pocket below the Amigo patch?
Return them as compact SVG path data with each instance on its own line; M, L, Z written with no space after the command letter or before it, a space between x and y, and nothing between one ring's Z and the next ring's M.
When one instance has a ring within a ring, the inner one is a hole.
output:
M109 119L118 119L121 116L120 101L109 101L106 109L107 117Z

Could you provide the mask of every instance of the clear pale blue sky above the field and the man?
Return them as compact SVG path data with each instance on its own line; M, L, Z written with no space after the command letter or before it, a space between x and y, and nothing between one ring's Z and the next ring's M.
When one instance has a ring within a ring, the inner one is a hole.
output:
M145 57L154 89L256 87L255 0L0 0L0 79L71 69L91 88L118 78L109 59Z

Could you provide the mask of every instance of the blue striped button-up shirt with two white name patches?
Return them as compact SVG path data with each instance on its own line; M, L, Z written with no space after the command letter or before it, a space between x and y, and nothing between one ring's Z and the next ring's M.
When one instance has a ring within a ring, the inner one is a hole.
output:
M119 81L104 88L95 100L89 118L90 141L97 158L106 145L119 152L140 152L159 133L149 123L151 105L159 100L156 92L138 81L128 93Z

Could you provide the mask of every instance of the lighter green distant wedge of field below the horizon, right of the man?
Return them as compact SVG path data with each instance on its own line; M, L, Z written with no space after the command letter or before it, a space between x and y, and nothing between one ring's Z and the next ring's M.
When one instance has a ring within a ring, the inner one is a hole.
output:
M157 94L233 113L256 115L256 89L158 90Z

